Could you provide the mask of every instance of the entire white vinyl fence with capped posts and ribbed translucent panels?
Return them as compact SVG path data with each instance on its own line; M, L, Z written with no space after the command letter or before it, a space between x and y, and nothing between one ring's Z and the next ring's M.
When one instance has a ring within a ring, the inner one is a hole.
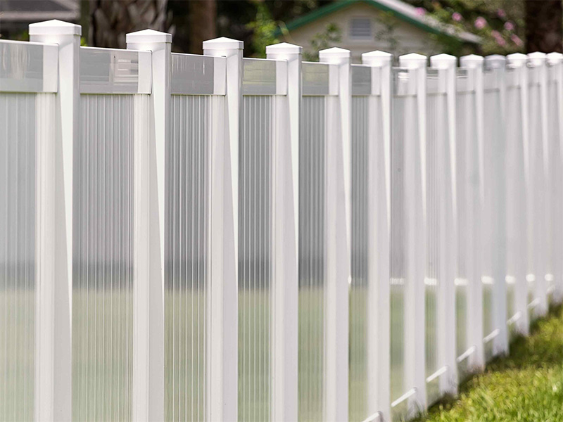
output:
M563 56L0 41L0 421L391 421L563 299Z

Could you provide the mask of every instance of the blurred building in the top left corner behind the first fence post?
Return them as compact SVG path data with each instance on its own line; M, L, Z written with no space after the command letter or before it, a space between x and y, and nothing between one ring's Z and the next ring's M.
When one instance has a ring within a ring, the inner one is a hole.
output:
M0 0L0 34L16 39L27 34L30 23L58 19L80 22L78 0Z

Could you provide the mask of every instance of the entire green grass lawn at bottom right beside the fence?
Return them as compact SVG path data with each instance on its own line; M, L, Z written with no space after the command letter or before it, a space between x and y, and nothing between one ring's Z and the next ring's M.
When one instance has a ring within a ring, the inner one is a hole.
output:
M419 421L563 421L563 307L517 338L510 356L493 360L484 373L460 386Z

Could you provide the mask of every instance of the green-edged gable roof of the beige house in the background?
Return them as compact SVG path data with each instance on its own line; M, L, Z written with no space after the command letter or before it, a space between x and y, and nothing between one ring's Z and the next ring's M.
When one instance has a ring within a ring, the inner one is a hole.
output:
M286 25L286 29L288 31L295 30L298 27L307 25L308 23L311 23L319 18L330 15L331 13L339 11L342 8L346 8L357 3L367 4L381 11L389 12L396 18L403 20L406 23L410 23L411 25L418 27L421 30L430 32L431 34L443 35L445 37L456 39L457 41L463 41L471 44L479 44L481 42L481 37L478 37L475 34L472 34L470 32L460 32L456 30L452 25L441 23L431 16L419 15L417 13L417 8L400 0L335 1L334 3L317 8L315 9L315 11L292 20ZM277 34L281 34L281 30L278 29Z

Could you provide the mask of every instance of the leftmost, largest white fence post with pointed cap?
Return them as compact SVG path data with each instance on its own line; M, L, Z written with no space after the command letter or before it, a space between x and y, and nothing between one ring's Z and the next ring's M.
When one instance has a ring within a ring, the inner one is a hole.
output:
M30 25L30 41L58 44L56 135L37 145L36 421L72 418L72 163L81 32L59 20Z

